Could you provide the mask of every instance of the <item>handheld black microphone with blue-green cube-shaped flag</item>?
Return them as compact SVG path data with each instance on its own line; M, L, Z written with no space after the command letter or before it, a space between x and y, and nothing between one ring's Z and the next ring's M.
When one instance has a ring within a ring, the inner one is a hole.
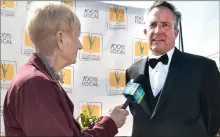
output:
M140 104L145 92L143 89L143 85L141 84L146 82L146 77L143 74L138 75L135 79L128 82L125 89L123 90L123 95L127 98L125 103L122 106L122 109L126 109L131 101L134 101L137 104Z

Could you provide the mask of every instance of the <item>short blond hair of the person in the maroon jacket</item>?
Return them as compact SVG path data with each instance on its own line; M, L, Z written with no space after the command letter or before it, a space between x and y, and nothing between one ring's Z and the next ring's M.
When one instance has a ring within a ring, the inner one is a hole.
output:
M78 17L62 2L47 2L35 8L32 14L27 21L27 33L35 48L44 55L53 53L58 31L72 33L79 30L77 25L80 27Z

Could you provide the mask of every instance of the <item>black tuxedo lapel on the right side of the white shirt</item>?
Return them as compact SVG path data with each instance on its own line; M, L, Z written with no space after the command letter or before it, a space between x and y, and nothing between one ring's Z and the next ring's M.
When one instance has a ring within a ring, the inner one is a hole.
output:
M151 118L155 116L155 114L160 110L160 108L165 104L165 101L172 89L172 84L175 81L175 78L179 72L180 64L181 64L181 52L175 48L173 53L173 57L170 63L169 72L167 74L166 81L164 83L163 89L161 91L160 97L158 99L157 105L153 111Z

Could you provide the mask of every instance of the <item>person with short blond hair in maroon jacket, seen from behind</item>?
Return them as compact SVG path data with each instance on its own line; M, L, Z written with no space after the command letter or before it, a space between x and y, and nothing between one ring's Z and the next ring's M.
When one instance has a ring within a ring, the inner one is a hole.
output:
M59 71L76 63L81 25L63 3L38 8L27 24L35 53L11 81L3 106L6 136L115 136L128 111L110 109L91 129L81 131L74 105L60 85Z

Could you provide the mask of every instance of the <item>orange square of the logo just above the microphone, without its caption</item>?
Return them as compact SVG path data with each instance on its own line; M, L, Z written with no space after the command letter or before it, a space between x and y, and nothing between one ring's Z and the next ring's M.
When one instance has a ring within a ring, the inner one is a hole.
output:
M109 85L116 88L125 87L125 72L117 70L109 72Z

